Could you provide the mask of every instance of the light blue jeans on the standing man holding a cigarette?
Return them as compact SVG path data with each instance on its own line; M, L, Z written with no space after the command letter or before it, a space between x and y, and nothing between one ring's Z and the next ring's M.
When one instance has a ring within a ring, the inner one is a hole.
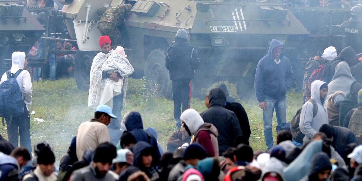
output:
M263 120L264 120L264 136L265 143L268 147L268 150L273 146L273 133L271 132L271 126L273 122L273 113L275 109L275 113L277 113L277 131L281 130L282 127L287 122L286 114L287 114L287 101L286 97L281 98L273 98L266 96L265 98L266 106L263 111Z

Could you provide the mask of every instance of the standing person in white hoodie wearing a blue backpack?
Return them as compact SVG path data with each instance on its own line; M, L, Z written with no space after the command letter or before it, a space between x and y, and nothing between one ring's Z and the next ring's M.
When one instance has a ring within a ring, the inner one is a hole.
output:
M25 70L28 57L24 52L13 52L11 64L0 80L0 116L5 118L9 142L18 147L20 135L20 146L31 152L29 106L33 85Z

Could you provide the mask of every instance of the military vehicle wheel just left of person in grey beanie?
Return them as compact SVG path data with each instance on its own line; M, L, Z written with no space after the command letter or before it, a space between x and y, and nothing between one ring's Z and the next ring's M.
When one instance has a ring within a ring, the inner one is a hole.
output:
M163 50L152 50L144 66L144 75L148 80L148 88L151 93L171 98L172 83L164 61L165 53Z

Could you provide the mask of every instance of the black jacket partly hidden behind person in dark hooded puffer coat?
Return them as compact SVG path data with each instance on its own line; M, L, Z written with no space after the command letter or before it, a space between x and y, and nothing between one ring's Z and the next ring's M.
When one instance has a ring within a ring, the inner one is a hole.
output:
M248 114L244 107L239 102L227 102L225 109L231 110L236 114L237 120L239 121L241 132L249 140L251 135Z

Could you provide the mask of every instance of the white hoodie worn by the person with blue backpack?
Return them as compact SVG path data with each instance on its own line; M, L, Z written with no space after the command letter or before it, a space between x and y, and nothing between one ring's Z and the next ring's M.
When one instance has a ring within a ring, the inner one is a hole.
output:
M20 51L15 51L11 55L11 68L10 73L16 73L18 70L24 68L25 63L25 53ZM8 80L6 72L3 74L0 80L0 84ZM21 71L20 74L16 77L16 81L19 84L22 98L25 101L26 107L28 108L31 105L32 94L33 94L33 85L31 84L30 73L27 70Z

